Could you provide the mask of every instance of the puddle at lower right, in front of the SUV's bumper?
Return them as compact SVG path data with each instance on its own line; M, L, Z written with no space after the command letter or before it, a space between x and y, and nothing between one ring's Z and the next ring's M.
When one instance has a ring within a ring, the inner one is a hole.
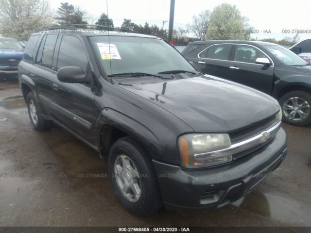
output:
M251 191L245 197L232 204L250 212L286 223L299 222L302 225L306 225L311 222L311 206L306 206L305 203L271 193Z

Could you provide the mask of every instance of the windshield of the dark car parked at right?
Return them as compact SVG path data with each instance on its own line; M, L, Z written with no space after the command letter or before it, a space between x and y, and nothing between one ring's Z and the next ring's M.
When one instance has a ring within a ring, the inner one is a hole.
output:
M294 54L291 50L285 49L282 46L268 45L265 46L267 50L273 53L283 64L289 66L306 66L308 63Z

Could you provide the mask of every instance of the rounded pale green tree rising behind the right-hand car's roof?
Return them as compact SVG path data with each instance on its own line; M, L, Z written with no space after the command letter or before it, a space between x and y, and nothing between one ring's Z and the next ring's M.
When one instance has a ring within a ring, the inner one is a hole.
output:
M209 40L243 40L244 25L239 9L235 5L222 3L210 14L207 31Z

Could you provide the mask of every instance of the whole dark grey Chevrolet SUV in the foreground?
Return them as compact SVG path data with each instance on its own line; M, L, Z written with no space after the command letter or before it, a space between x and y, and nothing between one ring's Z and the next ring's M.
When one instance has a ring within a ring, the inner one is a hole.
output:
M132 213L225 206L285 158L272 97L196 72L155 36L62 32L33 34L18 66L30 121L99 151Z

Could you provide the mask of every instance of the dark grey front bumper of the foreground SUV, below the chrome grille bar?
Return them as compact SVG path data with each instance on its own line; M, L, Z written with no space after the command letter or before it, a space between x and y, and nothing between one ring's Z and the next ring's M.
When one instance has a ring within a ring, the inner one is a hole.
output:
M282 128L263 150L228 165L183 169L153 160L165 206L169 209L214 209L239 200L284 160L287 136Z

